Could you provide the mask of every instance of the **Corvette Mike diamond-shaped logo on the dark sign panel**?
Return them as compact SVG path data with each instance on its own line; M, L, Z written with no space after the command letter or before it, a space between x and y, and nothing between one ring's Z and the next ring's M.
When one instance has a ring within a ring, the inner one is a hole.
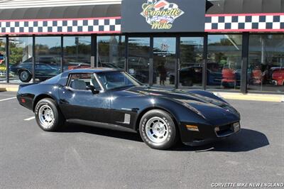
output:
M146 4L142 5L142 9L141 16L146 18L146 22L154 30L172 28L175 19L184 13L178 8L178 4L165 0L148 0Z

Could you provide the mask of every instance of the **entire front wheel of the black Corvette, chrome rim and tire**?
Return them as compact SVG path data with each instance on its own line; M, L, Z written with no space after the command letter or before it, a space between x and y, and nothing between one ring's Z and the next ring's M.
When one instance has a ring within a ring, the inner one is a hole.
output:
M175 121L168 112L153 109L143 115L139 131L143 141L151 148L165 150L178 141Z

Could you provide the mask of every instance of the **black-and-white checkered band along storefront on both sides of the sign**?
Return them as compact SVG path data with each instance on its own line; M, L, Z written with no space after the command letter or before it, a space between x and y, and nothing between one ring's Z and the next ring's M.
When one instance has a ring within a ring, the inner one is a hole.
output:
M205 31L284 31L284 13L206 15ZM0 35L60 33L121 33L121 17L17 21L0 20Z

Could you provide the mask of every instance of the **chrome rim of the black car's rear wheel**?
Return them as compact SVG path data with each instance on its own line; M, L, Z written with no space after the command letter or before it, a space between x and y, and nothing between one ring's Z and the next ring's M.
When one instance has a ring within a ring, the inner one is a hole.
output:
M40 124L44 129L50 129L50 127L53 126L53 123L55 121L53 109L51 109L48 105L43 105L42 107L40 107L38 111L38 117Z

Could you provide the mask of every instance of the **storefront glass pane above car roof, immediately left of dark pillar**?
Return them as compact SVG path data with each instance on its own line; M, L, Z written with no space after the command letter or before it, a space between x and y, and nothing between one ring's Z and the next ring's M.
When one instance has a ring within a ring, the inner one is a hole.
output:
M66 36L63 38L63 44L63 70L91 66L91 36Z

